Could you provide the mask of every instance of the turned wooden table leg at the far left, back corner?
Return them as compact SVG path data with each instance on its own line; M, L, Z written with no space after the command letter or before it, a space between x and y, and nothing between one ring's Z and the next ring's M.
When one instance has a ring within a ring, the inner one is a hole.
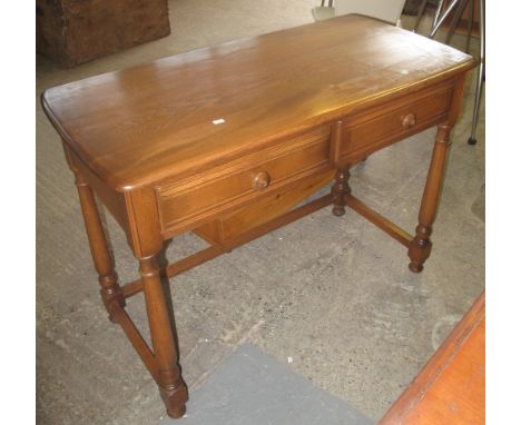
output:
M125 297L118 285L118 276L114 269L114 260L108 249L107 238L92 189L78 172L76 172L76 186L80 198L81 211L83 212L90 253L92 254L94 265L99 276L101 299L109 314L109 319L116 322L114 309L125 307Z

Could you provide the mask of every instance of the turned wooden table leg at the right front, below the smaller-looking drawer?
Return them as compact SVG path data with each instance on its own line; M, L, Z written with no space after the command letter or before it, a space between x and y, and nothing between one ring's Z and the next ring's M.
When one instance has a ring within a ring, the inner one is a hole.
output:
M409 247L409 257L411 258L409 268L414 273L423 270L423 264L431 254L432 244L430 236L432 234L432 224L436 216L438 202L443 182L451 129L452 127L449 125L440 125L438 127L431 167L429 168L425 189L423 191L422 206L420 208L416 235Z

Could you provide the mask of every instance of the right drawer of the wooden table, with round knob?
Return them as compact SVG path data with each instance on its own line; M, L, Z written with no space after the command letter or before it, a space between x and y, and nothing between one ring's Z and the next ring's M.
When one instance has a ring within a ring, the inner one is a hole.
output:
M446 119L452 85L431 88L350 116L332 138L334 164L350 164Z

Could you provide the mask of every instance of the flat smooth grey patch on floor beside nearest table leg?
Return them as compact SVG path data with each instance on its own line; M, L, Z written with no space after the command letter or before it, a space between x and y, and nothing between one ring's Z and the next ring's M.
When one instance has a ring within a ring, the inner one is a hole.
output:
M373 422L289 367L245 344L190 394L181 419L161 425L365 425Z

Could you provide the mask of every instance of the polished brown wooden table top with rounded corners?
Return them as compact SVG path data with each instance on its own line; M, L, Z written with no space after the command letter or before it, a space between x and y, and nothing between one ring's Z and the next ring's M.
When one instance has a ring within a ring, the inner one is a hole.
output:
M468 55L345 16L47 90L63 140L116 190L223 164L472 68Z

